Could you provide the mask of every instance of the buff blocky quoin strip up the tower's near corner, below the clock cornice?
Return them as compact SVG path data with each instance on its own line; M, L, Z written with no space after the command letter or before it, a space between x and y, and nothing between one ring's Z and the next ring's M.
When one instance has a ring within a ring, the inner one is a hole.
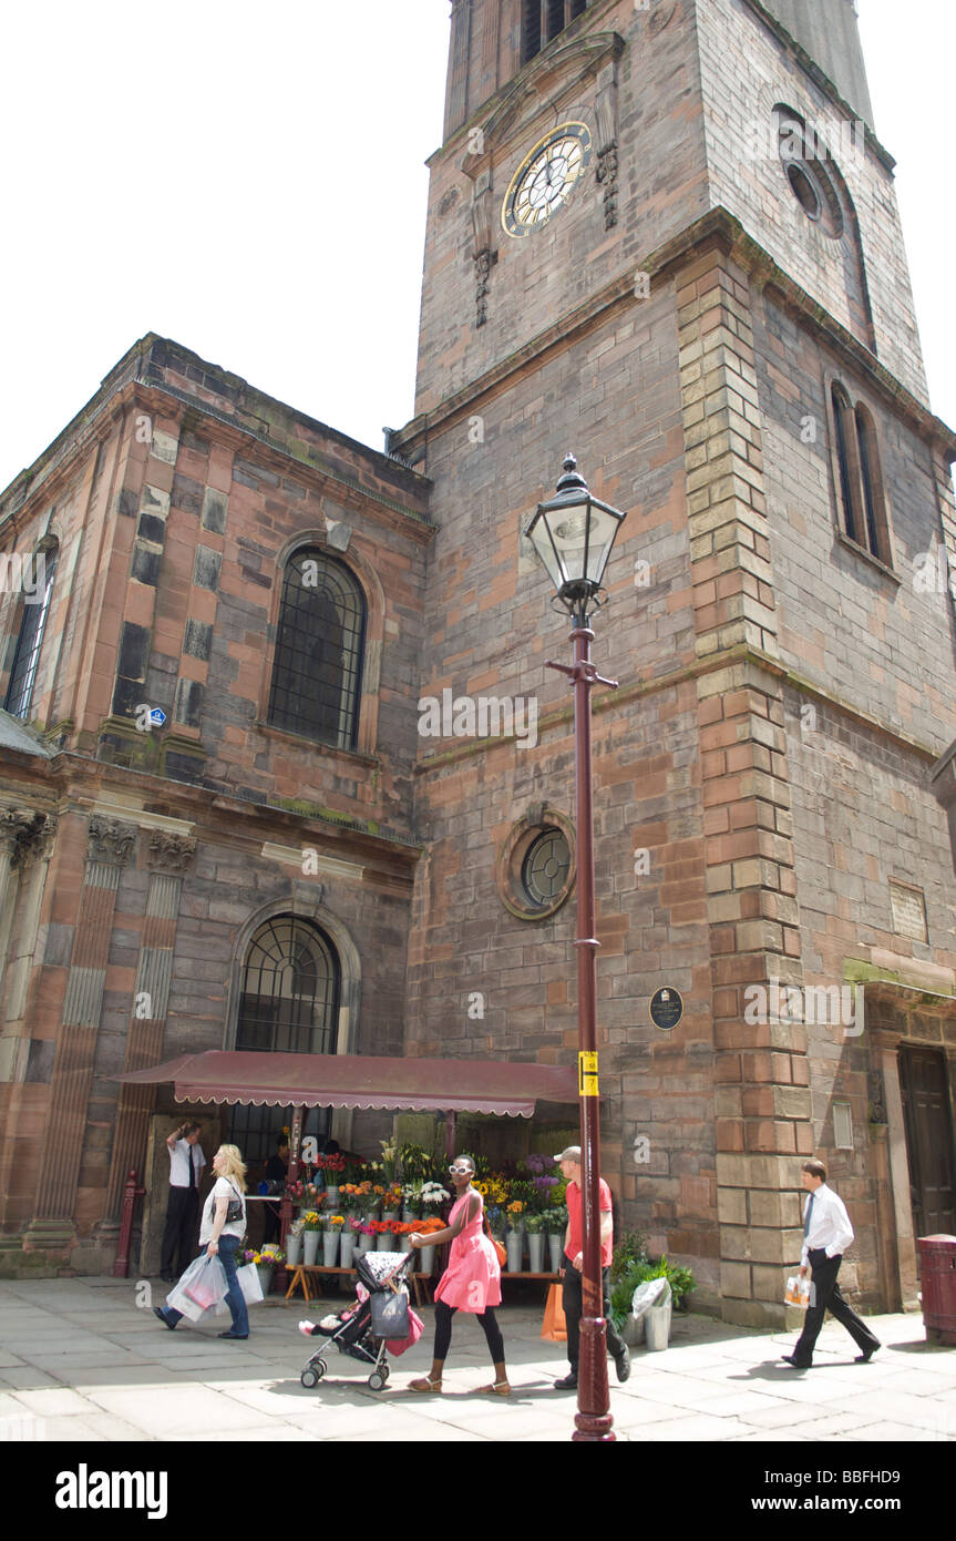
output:
M677 322L696 652L731 653L697 681L720 1293L728 1319L782 1321L813 1125L805 1028L773 1008L773 980L802 983L801 917L782 686L760 664L777 621L750 293L722 250L677 277Z

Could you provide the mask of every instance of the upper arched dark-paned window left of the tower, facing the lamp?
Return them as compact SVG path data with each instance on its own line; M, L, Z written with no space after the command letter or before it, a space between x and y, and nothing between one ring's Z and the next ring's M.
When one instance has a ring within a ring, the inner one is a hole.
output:
M285 570L269 723L337 749L359 737L365 595L343 562L317 549Z

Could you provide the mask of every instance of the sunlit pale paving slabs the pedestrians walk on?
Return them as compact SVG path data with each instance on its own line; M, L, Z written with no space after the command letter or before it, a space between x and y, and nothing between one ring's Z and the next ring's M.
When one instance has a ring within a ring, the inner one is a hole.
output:
M523 1287L525 1291L530 1287ZM477 1396L491 1379L474 1321L454 1319L440 1396L403 1390L431 1364L433 1313L422 1341L389 1359L373 1392L354 1359L329 1356L313 1390L299 1375L319 1339L302 1338L333 1299L303 1307L269 1298L251 1308L246 1342L220 1342L228 1316L171 1333L152 1316L166 1285L131 1279L0 1282L0 1439L8 1441L568 1441L576 1398L553 1388L563 1345L543 1342L540 1304L499 1313L514 1393ZM346 1299L346 1298L342 1298ZM811 1370L781 1362L793 1331L673 1319L664 1351L631 1350L631 1378L611 1379L622 1441L767 1442L956 1439L956 1348L928 1344L922 1318L873 1316L884 1348L867 1365L828 1322Z

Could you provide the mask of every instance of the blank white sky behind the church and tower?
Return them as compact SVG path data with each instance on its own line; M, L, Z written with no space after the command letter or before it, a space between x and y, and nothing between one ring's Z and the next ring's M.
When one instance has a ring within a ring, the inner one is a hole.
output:
M933 407L956 424L956 6L859 11ZM3 8L0 488L146 331L374 448L408 421L448 14L448 0Z

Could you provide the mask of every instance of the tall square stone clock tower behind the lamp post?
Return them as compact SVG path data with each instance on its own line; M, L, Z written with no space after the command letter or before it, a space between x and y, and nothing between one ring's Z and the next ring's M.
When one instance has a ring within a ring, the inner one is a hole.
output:
M522 538L573 450L628 510L594 644L603 1174L753 1322L811 1154L850 1287L911 1296L893 1119L905 1145L930 975L950 1094L956 1051L954 448L871 119L851 0L453 0L393 444L439 525L422 693L497 703L420 741L408 1051L576 1048L567 626Z

